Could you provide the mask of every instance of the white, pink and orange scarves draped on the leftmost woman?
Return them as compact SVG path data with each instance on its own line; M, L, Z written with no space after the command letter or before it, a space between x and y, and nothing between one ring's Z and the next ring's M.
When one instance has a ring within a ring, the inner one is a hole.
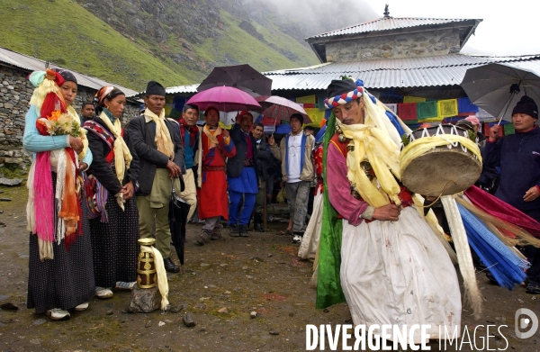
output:
M36 153L28 176L27 229L38 236L40 259L54 259L53 241L59 244L65 239L64 244L69 248L70 243L76 239L71 235L82 234L82 210L79 202L81 182L77 173L78 161L84 158L88 151L88 140L85 138L85 130L80 128L76 111L71 106L66 106L61 94L58 84L63 83L63 78L58 73L47 70L33 72L29 80L36 86L31 96L31 104L36 106L38 118L47 119L53 113L58 113L65 122L74 124L75 128L79 129L83 142L83 151L78 158L71 148ZM40 134L45 133L46 130L40 131ZM57 173L55 194L51 170ZM53 199L57 200L56 211ZM58 213L56 229L55 212Z

